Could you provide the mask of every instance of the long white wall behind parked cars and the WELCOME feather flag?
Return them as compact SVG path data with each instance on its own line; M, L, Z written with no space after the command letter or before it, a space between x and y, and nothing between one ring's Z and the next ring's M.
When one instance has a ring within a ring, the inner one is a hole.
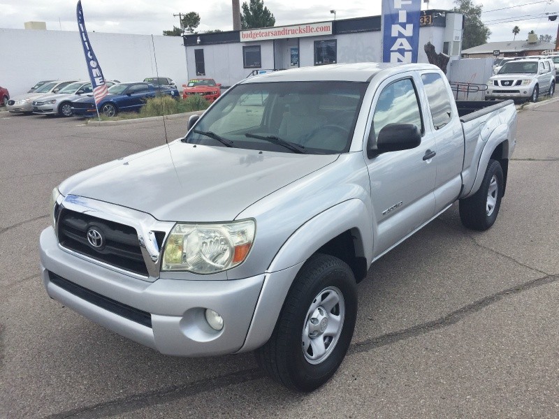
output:
M180 87L188 79L180 36L89 32L107 80L138 81L157 75ZM0 86L11 96L39 80L89 80L78 31L0 29Z

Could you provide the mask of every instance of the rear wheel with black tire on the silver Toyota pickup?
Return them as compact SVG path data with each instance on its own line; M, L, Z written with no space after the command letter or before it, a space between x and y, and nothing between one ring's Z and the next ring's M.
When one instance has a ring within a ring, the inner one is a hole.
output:
M499 214L503 192L503 175L501 164L490 160L481 181L479 191L460 200L460 220L463 226L472 230L487 230Z

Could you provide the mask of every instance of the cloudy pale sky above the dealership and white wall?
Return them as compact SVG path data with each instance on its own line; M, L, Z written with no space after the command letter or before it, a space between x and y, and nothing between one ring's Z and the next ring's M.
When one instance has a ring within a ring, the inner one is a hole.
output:
M0 0L0 28L23 29L24 22L38 20L47 22L49 30L75 31L76 3L77 0ZM474 3L483 4L481 0L474 0ZM545 13L559 13L559 0L485 3L481 17L491 29L489 41L511 41L515 25L521 29L517 39L526 39L532 29L538 35L556 37L559 19L550 22ZM275 16L276 26L331 20L331 9L336 10L337 19L379 15L380 4L380 0L264 0L264 5ZM198 31L233 29L231 1L228 0L82 0L82 7L88 31L161 35L166 29L173 29L173 24L178 26L178 17L173 14L190 11L200 14ZM429 8L452 7L452 0L430 0L429 3Z

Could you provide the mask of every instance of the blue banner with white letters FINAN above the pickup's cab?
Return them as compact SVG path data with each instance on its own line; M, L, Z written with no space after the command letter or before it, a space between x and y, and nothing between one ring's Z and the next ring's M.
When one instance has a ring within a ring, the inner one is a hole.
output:
M416 63L421 0L382 0L382 61Z

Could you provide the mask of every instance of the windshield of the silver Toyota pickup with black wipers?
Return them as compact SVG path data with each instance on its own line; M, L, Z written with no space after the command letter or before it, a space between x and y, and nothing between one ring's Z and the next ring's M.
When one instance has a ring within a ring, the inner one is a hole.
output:
M183 141L224 147L211 137L219 135L243 149L347 152L367 86L333 81L239 84L205 112Z

